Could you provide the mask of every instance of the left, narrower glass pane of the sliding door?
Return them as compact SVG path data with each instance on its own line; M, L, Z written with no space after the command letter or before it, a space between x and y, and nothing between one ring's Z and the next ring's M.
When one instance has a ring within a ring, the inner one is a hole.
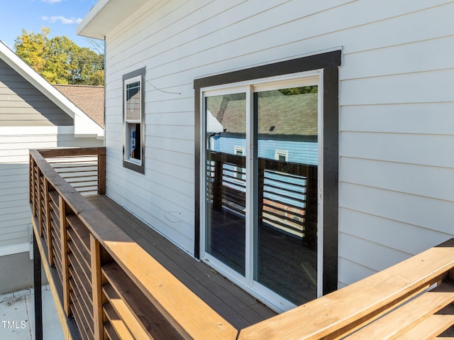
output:
M205 98L205 252L245 275L246 95Z

